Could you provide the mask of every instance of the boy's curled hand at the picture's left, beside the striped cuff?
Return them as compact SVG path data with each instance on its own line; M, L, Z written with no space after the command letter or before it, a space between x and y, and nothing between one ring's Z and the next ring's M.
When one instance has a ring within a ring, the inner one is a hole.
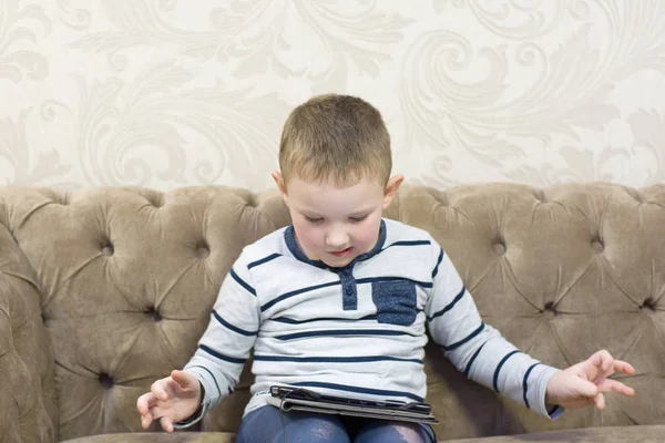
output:
M171 377L155 381L151 392L136 401L141 425L147 429L153 420L160 420L162 429L173 432L173 423L188 419L201 404L198 379L184 371L172 371Z

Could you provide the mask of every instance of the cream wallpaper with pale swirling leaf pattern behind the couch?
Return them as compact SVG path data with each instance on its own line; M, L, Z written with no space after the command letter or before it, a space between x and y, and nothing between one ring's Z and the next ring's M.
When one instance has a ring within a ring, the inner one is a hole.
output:
M665 2L0 0L0 184L272 187L323 92L409 182L662 182Z

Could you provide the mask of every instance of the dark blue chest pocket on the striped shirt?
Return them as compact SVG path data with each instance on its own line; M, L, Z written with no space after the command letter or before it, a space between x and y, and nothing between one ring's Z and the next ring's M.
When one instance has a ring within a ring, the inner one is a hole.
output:
M418 316L416 284L409 280L374 281L371 299L379 323L410 326Z

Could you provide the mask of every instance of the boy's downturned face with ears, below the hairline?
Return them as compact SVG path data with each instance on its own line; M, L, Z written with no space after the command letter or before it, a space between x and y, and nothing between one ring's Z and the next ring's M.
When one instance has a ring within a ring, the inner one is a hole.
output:
M346 266L374 248L383 209L403 181L396 176L383 187L364 179L340 188L298 177L285 186L279 173L273 177L288 205L298 246L309 259L330 267Z

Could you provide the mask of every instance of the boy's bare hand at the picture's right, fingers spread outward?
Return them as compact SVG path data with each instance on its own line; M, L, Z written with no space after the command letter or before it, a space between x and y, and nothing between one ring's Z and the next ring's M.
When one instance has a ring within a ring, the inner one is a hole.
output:
M576 409L595 404L605 408L603 392L615 392L633 396L635 391L620 381L607 379L615 372L634 374L635 369L625 361L614 360L610 352L602 350L589 359L556 372L548 383L546 404L557 404L565 409Z

